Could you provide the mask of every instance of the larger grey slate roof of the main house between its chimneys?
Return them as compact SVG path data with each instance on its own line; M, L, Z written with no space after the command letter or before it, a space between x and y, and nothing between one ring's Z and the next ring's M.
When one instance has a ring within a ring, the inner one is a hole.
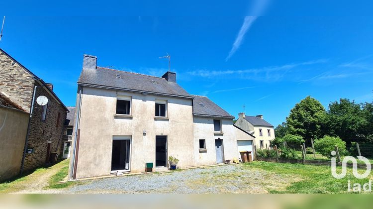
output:
M120 78L116 78L116 74L119 74ZM157 83L153 83L152 80ZM164 78L102 67L97 67L97 69L83 68L78 84L193 98L177 83L168 82Z

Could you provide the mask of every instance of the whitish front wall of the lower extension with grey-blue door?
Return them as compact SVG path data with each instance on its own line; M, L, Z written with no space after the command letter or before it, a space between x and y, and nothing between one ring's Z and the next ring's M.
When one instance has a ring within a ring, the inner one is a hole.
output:
M216 164L215 139L223 140L224 160L231 162L239 157L237 140L255 141L254 137L234 127L231 119L221 119L222 133L216 133L213 120L214 118L193 117L196 165ZM199 151L199 139L205 139L206 151Z

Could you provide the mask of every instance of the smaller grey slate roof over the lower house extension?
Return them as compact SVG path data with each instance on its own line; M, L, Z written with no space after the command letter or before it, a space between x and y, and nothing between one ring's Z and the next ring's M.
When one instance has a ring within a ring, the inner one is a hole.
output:
M205 107L202 107L200 104L204 104ZM197 116L234 118L234 116L230 115L223 108L212 102L207 97L197 95L194 95L193 114Z

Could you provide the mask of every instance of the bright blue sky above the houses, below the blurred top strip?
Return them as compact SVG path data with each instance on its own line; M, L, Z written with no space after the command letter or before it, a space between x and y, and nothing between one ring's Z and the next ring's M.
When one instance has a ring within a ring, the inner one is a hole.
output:
M188 93L236 117L245 105L274 125L308 95L325 106L373 101L371 16L7 16L0 47L66 105L84 53L101 67L162 76L168 52Z

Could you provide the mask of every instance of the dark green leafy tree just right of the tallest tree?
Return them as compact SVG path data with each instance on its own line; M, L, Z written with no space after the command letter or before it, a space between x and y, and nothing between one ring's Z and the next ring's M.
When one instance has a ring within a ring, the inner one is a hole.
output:
M338 136L347 142L365 140L365 127L368 121L362 105L348 99L340 99L339 102L329 104L324 121L324 134ZM369 107L367 111L368 109Z

